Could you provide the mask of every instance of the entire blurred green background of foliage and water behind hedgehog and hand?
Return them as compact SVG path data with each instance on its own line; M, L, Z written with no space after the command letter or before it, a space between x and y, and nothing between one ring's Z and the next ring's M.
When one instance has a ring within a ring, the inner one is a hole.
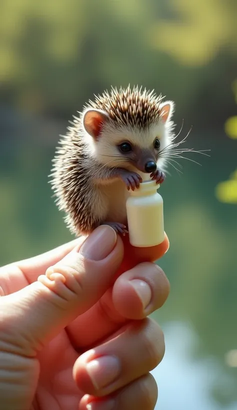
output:
M237 409L236 0L1 0L0 264L71 239L51 159L72 114L110 85L176 104L185 147L160 191L171 291L154 314L161 410Z

